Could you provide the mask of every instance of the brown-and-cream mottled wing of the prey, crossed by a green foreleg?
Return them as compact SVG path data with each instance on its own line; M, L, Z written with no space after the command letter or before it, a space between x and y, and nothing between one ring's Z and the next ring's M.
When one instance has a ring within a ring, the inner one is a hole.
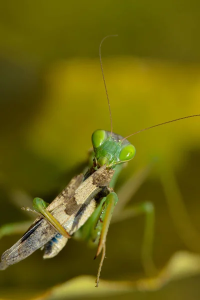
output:
M75 232L91 215L95 209L94 197L103 187L109 185L113 173L112 169L100 167L78 186L73 196L63 198L60 201L62 203L51 211L69 234ZM55 234L55 230L45 219L36 219L32 227L2 254L0 269L24 259L48 242Z

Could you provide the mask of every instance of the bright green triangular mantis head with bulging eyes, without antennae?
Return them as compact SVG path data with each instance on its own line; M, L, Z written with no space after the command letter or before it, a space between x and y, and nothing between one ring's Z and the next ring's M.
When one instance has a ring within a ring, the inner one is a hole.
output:
M132 159L135 155L135 147L121 135L97 129L91 136L97 164L114 167Z

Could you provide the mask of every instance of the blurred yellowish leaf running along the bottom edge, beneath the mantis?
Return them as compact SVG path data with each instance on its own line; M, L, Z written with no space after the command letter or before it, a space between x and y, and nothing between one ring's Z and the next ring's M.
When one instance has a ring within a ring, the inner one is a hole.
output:
M174 253L167 265L154 278L144 278L135 281L108 281L100 280L98 288L94 288L95 277L78 276L65 283L50 288L41 296L32 300L61 300L117 293L134 290L156 290L171 280L182 279L200 272L200 256L180 251Z

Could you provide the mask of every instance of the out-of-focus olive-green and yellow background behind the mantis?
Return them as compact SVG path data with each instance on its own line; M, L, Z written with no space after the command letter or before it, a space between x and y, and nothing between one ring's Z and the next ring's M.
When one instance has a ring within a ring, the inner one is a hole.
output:
M19 190L52 200L81 171L93 130L110 129L98 58L105 35L118 34L103 43L102 60L113 130L126 136L200 112L199 31L197 0L1 1L0 225L30 219L19 209ZM150 200L155 205L153 259L158 269L176 251L200 252L199 235L192 231L192 226L200 230L199 123L200 117L190 118L130 138L136 156L118 183L153 162L131 203ZM167 195L174 195L170 206ZM103 279L145 277L143 228L142 216L110 226ZM0 253L19 237L3 237ZM0 272L0 297L27 299L72 277L95 275L94 253L74 240L50 260L42 260L38 250ZM199 279L196 274L158 291L114 297L198 299Z

